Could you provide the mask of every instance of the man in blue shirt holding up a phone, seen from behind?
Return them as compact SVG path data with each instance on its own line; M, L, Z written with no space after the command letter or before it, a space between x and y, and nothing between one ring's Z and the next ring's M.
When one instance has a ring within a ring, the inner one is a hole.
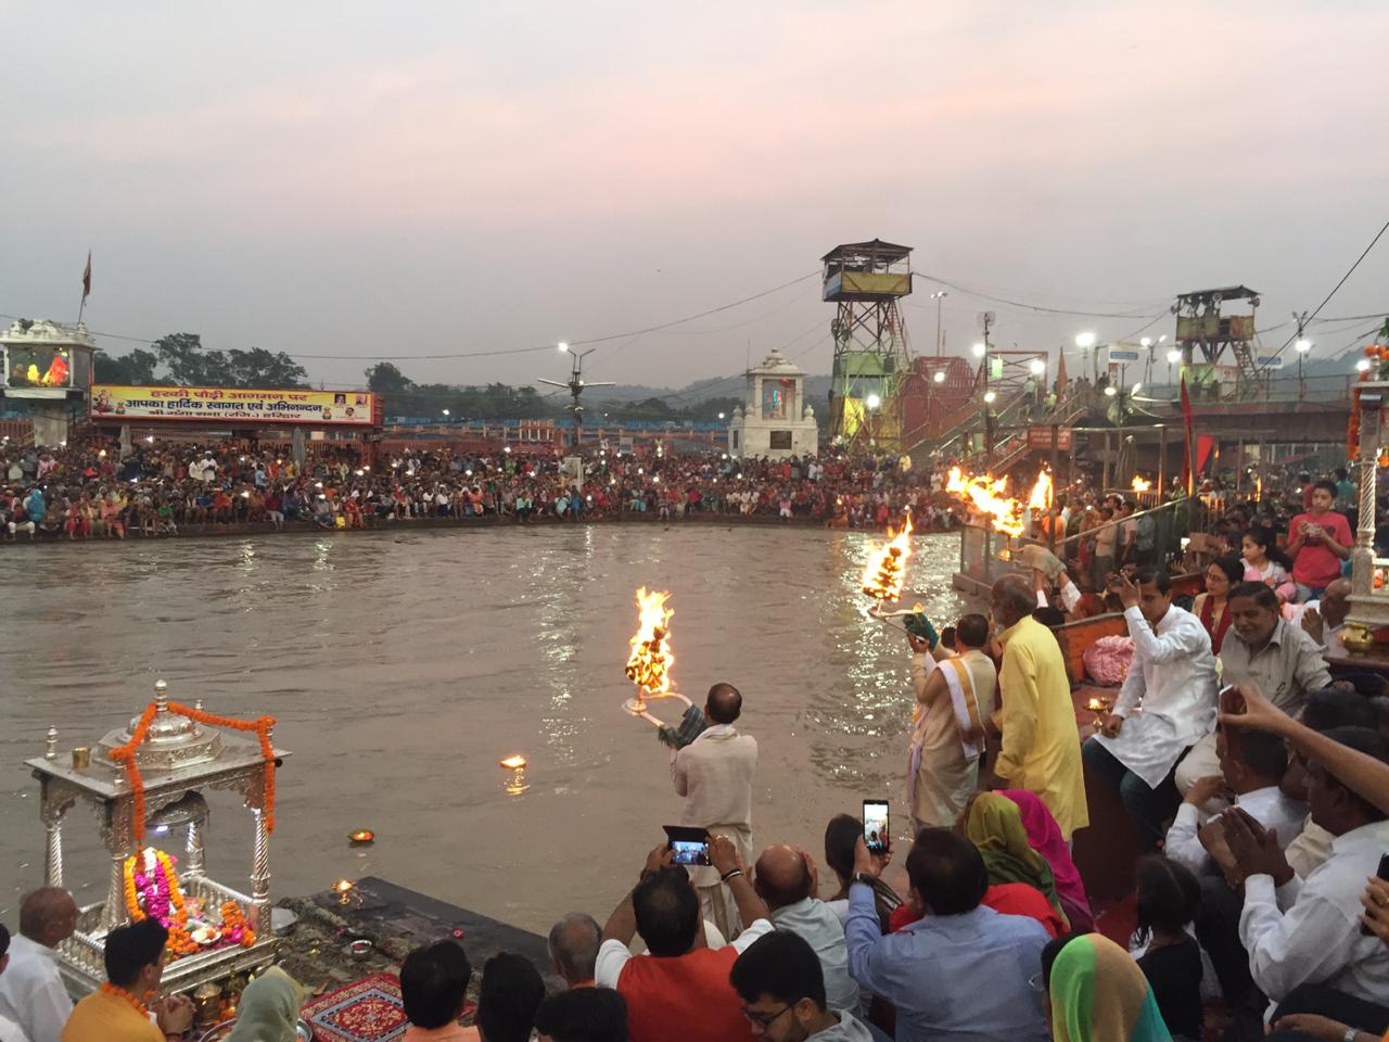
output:
M1046 1042L1040 978L1049 936L1033 918L979 904L989 888L968 839L924 828L907 854L910 902L925 917L881 936L872 860L860 836L849 888L849 973L897 1007L897 1042Z

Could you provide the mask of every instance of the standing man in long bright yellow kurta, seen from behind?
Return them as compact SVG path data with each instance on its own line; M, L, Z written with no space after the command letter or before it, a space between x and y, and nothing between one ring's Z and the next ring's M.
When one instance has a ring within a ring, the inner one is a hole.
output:
M1021 575L1004 575L989 599L1001 627L1003 752L995 764L996 788L1026 789L1051 811L1067 839L1090 824L1085 803L1085 771L1075 727L1071 682L1061 646L1050 629L1032 618L1036 593Z

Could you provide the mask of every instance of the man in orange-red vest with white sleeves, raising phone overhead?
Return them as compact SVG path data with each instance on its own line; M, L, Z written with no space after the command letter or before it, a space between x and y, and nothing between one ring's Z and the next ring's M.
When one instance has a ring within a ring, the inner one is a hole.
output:
M772 932L772 924L732 841L714 836L710 861L732 891L739 918L750 924L733 943L717 950L706 945L699 895L664 845L647 856L640 882L603 929L596 979L626 1000L631 1042L754 1038L729 973L739 954ZM629 950L636 934L646 942L643 956Z

